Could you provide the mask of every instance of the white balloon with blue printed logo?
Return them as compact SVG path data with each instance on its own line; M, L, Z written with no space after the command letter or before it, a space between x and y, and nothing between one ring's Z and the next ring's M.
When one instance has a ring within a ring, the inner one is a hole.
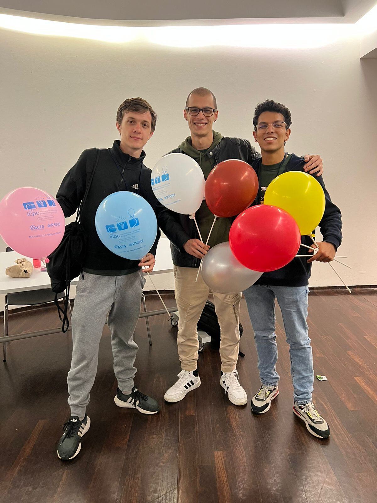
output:
M156 162L151 185L156 198L169 210L192 215L204 198L203 171L192 157L180 153L167 154Z

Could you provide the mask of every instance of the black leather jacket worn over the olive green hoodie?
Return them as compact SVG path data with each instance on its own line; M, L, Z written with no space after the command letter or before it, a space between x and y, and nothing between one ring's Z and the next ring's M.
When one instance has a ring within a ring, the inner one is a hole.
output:
M185 153L179 147L171 150L168 153L175 152ZM260 154L255 151L255 148L250 145L250 142L248 140L229 137L222 138L220 143L218 143L213 148L213 150L210 150L203 155L208 155L211 159L213 159L214 165L227 159L240 159L251 164L255 159L258 159L260 157ZM171 216L179 222L184 231L184 234L181 235L181 242L178 243L178 245L174 241L170 242L171 258L173 260L173 264L181 267L199 267L200 259L197 259L196 257L193 257L192 255L186 253L186 251L184 251L183 249L183 244L187 240L193 238L199 239L199 234L194 220L189 215L181 215L170 210L169 212Z

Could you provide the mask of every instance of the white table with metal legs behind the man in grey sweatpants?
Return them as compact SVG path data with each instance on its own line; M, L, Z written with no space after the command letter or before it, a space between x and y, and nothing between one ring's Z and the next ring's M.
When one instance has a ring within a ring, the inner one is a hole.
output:
M22 292L27 290L40 290L42 288L50 288L50 277L47 272L40 271L39 269L34 269L30 278L11 278L5 274L7 267L12 266L14 261L21 258L21 255L17 251L3 251L0 252L0 294ZM31 262L32 260L29 259ZM156 253L156 265L153 272L150 275L171 273L173 271L173 262L171 260L170 254L170 242L167 238L161 238L158 242L157 253ZM71 281L71 285L76 285L78 283L78 278ZM165 309L159 309L155 311L147 311L145 305L145 298L143 295L143 305L145 312L140 313L140 318L146 318L147 330L149 344L151 345L150 329L149 329L149 316L155 316L157 314L165 314ZM168 309L170 313L177 311L176 307L170 307ZM170 316L170 322L173 326L177 324L177 317L174 314ZM70 329L70 328L69 328ZM59 333L61 329L51 329L51 330L40 330L37 332L29 332L17 334L15 336L0 337L0 343L17 341L20 339L29 339L31 337L44 336L52 333Z

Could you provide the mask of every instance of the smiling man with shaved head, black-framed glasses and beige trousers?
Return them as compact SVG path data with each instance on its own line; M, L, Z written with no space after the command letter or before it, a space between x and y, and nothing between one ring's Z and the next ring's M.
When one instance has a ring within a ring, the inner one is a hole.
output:
M210 171L219 162L226 159L241 159L251 164L259 157L259 153L248 140L224 137L213 131L213 123L219 115L214 94L206 88L192 91L186 100L183 110L184 119L188 122L191 135L172 152L190 155L201 166L207 179ZM319 156L306 156L310 162L306 169L312 173L322 173L322 160ZM216 313L221 328L220 386L228 393L229 400L235 405L247 403L247 395L238 382L236 364L239 352L239 311L241 292L220 294L211 291L204 283L201 274L196 277L200 260L207 254L211 246L228 241L232 218L216 220L208 246L198 239L195 223L189 215L175 214L185 231L185 238L179 246L171 245L171 255L174 264L175 299L177 302L178 321L178 355L181 362L181 372L178 380L165 393L165 400L177 402L193 389L200 386L201 381L197 370L198 362L198 331L197 324L210 293L214 296ZM213 214L205 201L196 213L202 237L207 240L213 223Z

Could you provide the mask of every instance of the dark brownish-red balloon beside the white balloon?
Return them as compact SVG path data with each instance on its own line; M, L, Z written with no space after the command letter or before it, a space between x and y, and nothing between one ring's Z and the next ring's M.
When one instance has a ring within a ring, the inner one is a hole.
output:
M250 206L258 193L258 177L250 164L239 159L219 162L207 177L204 194L210 211L233 217Z

